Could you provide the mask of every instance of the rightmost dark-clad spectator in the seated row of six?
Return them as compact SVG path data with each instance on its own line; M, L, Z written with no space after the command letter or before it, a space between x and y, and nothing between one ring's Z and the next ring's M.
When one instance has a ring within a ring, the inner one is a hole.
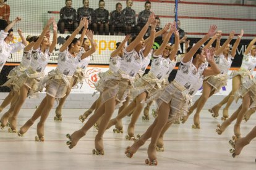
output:
M151 2L146 1L145 2L145 10L142 10L142 12L139 13L138 19L137 19L137 34L140 32L140 30L143 28L143 26L148 22L148 17L151 14Z

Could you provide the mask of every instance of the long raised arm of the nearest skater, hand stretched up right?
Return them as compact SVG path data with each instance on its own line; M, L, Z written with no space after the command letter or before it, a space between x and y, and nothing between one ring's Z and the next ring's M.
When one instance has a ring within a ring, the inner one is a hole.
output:
M209 39L211 36L214 36L215 33L216 33L216 29L217 29L217 26L216 25L211 25L210 26L210 29L208 31L208 33L202 38L200 39L197 44L195 44L194 47L192 47L190 49L189 52L187 52L184 57L183 57L183 62L184 63L187 63L191 60L191 58L193 57L193 55L195 55L195 52L197 52L197 50L203 45L203 43L205 43L207 41L207 39Z

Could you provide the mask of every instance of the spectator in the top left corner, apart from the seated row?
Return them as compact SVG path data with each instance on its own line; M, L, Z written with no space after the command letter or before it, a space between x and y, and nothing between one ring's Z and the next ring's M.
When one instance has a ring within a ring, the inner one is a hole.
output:
M6 28L6 26L10 23L10 6L5 4L6 1L7 0L0 0L0 30L4 30L4 28Z

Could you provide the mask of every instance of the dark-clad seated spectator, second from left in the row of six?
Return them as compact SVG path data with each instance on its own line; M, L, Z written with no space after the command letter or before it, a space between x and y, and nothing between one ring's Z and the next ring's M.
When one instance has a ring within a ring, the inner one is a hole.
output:
M89 0L83 0L83 7L77 9L77 23L80 23L81 18L87 17L88 29L92 30L93 16L94 10L89 7Z

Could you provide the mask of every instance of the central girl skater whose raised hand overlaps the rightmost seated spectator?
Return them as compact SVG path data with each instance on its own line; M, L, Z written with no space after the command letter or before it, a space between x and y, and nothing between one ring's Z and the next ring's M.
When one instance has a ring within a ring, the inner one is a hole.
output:
M79 139L85 136L88 129L90 129L90 127L92 127L93 124L95 124L96 121L104 115L101 119L98 134L95 136L96 149L93 150L93 153L96 153L96 155L104 154L103 134L106 130L109 119L111 118L111 115L113 115L116 105L126 99L129 89L132 87L132 84L134 84L135 75L139 71L142 61L147 57L151 50L151 46L153 46L152 39L148 44L150 47L146 47L144 51L141 50L144 44L143 35L146 33L150 23L154 20L155 16L152 13L148 18L147 24L142 28L137 38L124 50L124 56L122 57L121 66L117 75L119 79L110 79L109 81L106 81L105 89L101 95L101 105L95 114L88 119L87 123L85 123L81 129L75 131L71 136L67 134L67 137L69 137L69 141L67 141L69 148L73 148L77 145ZM155 38L155 33L152 33L152 36Z

